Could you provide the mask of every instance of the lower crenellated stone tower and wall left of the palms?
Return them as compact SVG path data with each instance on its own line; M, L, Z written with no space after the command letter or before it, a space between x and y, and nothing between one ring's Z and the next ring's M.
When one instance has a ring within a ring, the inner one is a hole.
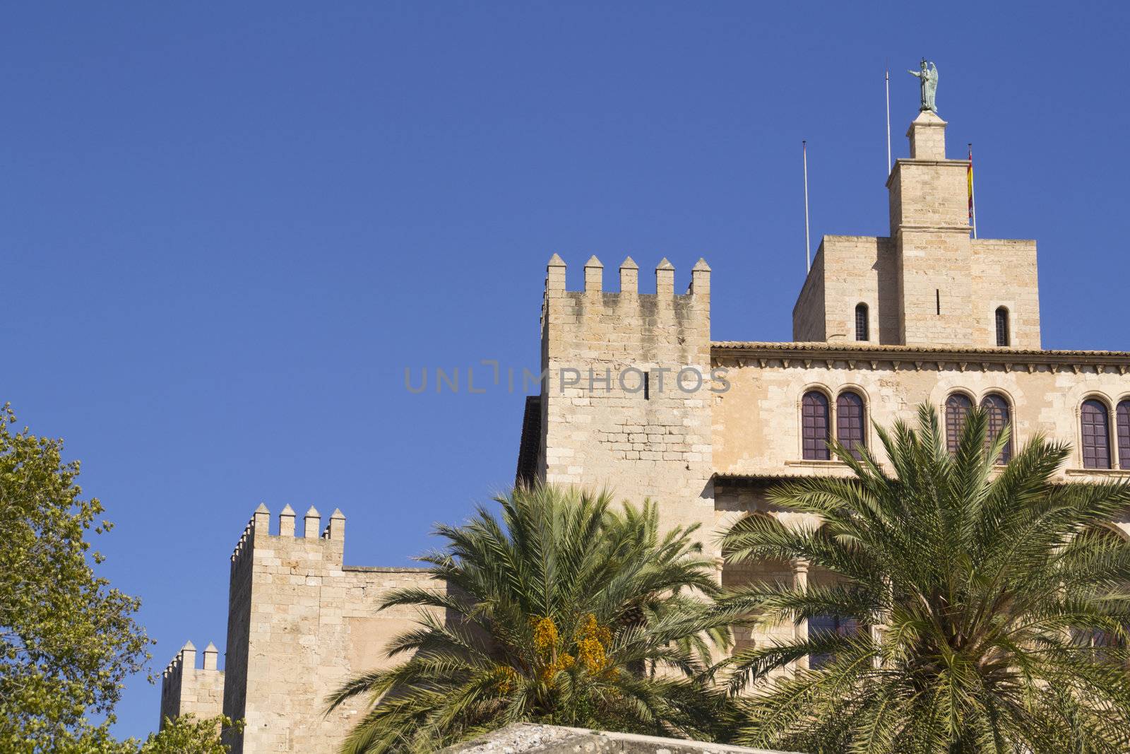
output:
M232 557L224 712L244 720L228 733L236 754L334 752L366 700L324 716L327 696L349 677L393 661L392 638L416 623L414 608L377 612L392 589L443 589L420 569L344 564L345 517L311 508L296 536L290 506L270 532L260 506Z

